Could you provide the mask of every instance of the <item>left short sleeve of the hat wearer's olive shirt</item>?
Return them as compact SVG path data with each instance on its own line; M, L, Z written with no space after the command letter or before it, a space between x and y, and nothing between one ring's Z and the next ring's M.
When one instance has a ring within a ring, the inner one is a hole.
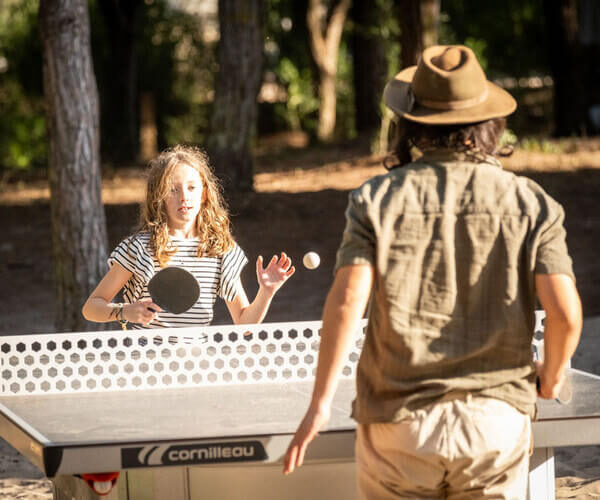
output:
M367 203L359 190L352 191L346 208L346 228L337 251L334 271L356 264L375 265L375 232Z

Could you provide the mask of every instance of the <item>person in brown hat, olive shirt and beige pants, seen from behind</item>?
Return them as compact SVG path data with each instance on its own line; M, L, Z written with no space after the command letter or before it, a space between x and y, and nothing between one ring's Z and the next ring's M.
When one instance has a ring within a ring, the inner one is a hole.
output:
M536 395L557 396L581 329L563 210L493 156L516 103L467 47L426 49L384 101L395 163L350 194L313 396L284 472L327 422L370 301L352 412L360 498L524 498Z

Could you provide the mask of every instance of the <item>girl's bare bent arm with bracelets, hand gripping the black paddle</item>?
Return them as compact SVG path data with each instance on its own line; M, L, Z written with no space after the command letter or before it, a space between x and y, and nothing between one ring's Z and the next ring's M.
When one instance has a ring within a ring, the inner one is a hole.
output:
M81 310L83 317L96 323L117 321L116 315L120 306L111 301L125 286L132 274L131 271L115 262L83 305ZM148 324L156 318L156 313L148 309L149 307L155 311L162 311L157 304L147 299L134 304L123 304L121 317L134 323Z

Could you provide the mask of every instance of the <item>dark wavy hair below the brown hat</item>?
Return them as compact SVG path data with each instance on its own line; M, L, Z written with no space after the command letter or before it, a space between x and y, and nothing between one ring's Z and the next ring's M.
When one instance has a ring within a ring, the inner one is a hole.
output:
M413 161L414 149L453 149L466 153L473 161L485 161L486 155L509 156L510 146L499 149L506 128L505 118L459 125L425 125L395 116L388 134L388 170Z

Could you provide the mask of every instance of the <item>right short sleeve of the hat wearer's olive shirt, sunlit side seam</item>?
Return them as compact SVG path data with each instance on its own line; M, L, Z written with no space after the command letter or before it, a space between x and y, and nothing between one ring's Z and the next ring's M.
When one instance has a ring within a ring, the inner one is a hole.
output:
M540 212L536 242L535 274L567 274L573 279L573 262L567 248L565 212L559 203L546 196Z

